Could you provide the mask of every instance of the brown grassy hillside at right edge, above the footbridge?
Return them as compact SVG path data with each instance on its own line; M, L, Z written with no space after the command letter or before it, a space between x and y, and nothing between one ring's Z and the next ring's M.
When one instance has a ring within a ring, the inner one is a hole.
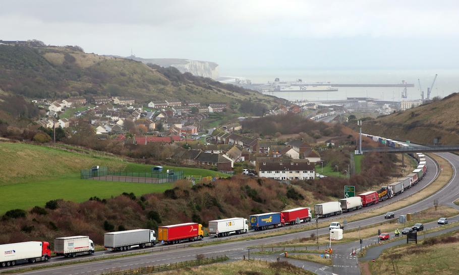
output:
M433 145L459 144L459 94L440 101L363 122L362 132L390 139ZM349 126L358 130L357 123Z

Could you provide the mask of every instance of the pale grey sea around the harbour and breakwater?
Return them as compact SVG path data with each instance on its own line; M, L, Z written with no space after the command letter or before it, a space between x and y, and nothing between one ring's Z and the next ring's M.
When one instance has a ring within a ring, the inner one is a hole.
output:
M220 76L250 80L252 84L272 83L274 79L295 82L330 82L331 84L401 84L407 82L415 87L407 88L407 98L402 98L404 87L337 87L336 92L269 92L270 95L289 101L345 100L350 97L372 98L382 101L421 99L421 91L427 98L427 88L432 86L430 98L446 97L459 92L459 70L231 70L220 67ZM418 81L419 79L419 81ZM421 89L419 82L421 83ZM268 94L266 92L266 94Z

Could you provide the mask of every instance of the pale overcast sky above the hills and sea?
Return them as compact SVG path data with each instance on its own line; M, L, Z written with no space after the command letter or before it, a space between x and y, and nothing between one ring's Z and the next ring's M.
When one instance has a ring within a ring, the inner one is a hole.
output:
M459 1L0 3L0 39L257 68L457 68Z

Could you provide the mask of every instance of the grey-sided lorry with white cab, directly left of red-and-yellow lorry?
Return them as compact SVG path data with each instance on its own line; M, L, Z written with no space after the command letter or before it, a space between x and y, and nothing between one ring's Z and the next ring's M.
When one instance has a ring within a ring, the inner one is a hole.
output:
M132 246L144 248L147 244L155 246L156 233L150 229L133 229L109 232L103 235L105 250L128 250Z

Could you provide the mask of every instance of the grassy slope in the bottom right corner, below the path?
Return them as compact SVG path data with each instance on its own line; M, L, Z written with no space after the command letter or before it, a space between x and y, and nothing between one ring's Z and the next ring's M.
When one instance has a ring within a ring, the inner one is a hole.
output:
M382 251L376 261L361 262L363 275L378 274L458 274L457 251L459 232L401 244Z

